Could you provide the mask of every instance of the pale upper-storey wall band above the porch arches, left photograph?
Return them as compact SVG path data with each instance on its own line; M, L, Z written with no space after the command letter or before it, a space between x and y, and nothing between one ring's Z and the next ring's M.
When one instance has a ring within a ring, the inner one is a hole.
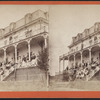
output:
M7 46L7 45L10 45L10 44L13 44L13 43L16 43L16 42L19 42L20 40L24 40L24 39L27 39L27 38L30 38L30 37L33 37L33 36L36 36L36 35L39 35L41 33L48 33L48 26L44 26L44 27L41 27L37 30L27 30L25 32L22 32L22 33L17 33L16 35L13 35L12 37L8 37L8 38L4 38L2 40L0 40L0 48L4 47L4 46Z

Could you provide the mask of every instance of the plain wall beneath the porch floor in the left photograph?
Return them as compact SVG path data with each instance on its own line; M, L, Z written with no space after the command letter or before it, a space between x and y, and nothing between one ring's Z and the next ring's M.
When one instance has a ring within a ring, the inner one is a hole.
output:
M14 70L11 74L9 74L4 81L28 81L28 80L42 80L45 82L46 76L45 72L40 70L39 68L27 67L27 68L19 68Z

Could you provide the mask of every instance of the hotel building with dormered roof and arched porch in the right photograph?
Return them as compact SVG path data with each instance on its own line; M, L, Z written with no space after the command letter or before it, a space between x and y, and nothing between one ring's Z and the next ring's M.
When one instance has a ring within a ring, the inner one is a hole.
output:
M97 22L91 28L85 29L83 33L72 37L72 43L68 47L69 52L59 57L59 73L61 67L65 70L66 67L82 66L82 63L89 65L92 61L100 64L100 23Z

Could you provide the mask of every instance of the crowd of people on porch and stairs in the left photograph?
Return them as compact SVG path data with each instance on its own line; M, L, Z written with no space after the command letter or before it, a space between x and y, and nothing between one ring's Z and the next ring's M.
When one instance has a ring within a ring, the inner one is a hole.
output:
M36 67L37 66L37 55L33 52L30 52L25 55L18 56L17 63L12 57L11 59L6 58L5 62L0 62L0 75L8 72L11 67L13 68L23 68L23 67Z

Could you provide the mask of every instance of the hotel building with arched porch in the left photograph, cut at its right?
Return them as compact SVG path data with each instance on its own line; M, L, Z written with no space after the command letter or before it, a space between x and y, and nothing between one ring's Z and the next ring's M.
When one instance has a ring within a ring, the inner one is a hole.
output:
M17 22L10 23L6 28L0 29L0 63L14 60L18 63L19 58L29 57L31 52L36 56L48 46L48 12L37 10L26 14ZM1 75L1 80L14 71L10 68L7 74Z

